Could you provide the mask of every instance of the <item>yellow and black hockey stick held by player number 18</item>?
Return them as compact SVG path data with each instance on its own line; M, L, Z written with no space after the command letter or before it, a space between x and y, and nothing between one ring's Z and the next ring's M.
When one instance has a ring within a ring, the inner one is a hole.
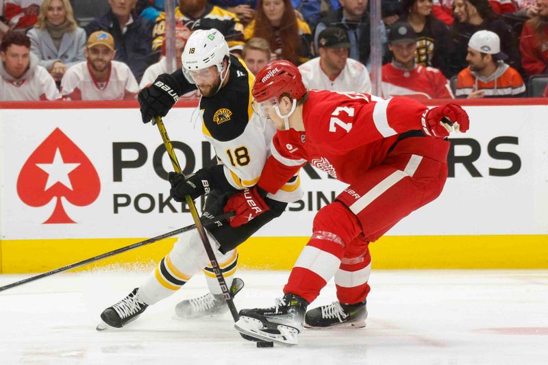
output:
M179 165L179 160L177 160L177 156L175 155L175 150L173 150L171 140L169 140L169 136L167 135L166 127L164 127L162 117L156 116L155 122L156 125L158 125L160 135L162 135L162 140L164 140L164 146L166 147L166 151L169 155L169 158L171 159L171 164L173 165L175 173L183 173L183 171L181 170L181 165ZM198 229L198 234L200 235L201 242L203 243L203 248L206 249L206 253L208 254L208 258L210 259L213 272L215 273L217 281L219 281L219 286L221 286L221 290L223 291L223 297L227 302L230 313L232 314L232 318L234 318L234 322L236 322L238 321L238 311L236 310L234 301L232 301L232 295L230 295L229 288L225 281L225 277L223 277L223 273L221 273L221 268L219 267L219 263L217 262L215 254L213 253L213 249L211 248L210 240L208 239L206 230L203 229L203 225L201 225L200 216L198 215L196 205L188 195L186 196L186 205L188 205L190 214L192 214L192 218L196 223L196 228Z

